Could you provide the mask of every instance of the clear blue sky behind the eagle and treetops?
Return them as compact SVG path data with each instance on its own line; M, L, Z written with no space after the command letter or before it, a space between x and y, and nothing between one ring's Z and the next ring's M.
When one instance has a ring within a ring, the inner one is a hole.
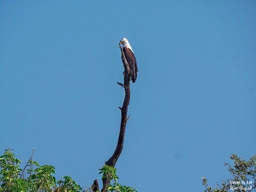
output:
M0 152L100 181L124 90L118 43L138 62L119 182L202 191L255 155L255 1L0 1ZM102 186L101 181L100 188Z

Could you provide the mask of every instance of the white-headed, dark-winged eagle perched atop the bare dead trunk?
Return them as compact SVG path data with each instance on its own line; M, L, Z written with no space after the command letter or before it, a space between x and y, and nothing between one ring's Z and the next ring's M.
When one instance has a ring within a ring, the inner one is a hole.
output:
M120 40L119 46L121 44L123 45L124 56L130 67L130 80L133 80L133 82L135 82L137 78L138 66L137 66L136 58L134 56L133 49L126 38L122 38Z

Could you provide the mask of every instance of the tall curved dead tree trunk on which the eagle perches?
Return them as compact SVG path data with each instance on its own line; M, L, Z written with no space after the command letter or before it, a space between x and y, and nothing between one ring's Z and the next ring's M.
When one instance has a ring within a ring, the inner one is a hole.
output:
M125 127L126 127L126 122L129 119L129 117L127 118L127 111L128 111L128 105L130 103L130 93L131 93L131 91L130 91L130 67L129 67L129 64L128 64L125 56L124 56L122 48L120 46L119 46L119 48L122 53L122 62L123 62L123 67L124 67L124 72L123 72L124 84L119 83L119 82L118 82L118 84L124 88L125 96L124 96L122 108L119 107L119 109L121 110L121 125L120 125L120 133L119 133L116 150L115 150L114 154L112 155L112 157L108 161L105 162L105 164L112 166L112 167L115 166L115 164L123 150ZM103 187L102 187L101 192L105 192L106 187L108 187L108 185L110 184L111 181L108 178L104 178L104 179L102 179L102 182L103 182Z

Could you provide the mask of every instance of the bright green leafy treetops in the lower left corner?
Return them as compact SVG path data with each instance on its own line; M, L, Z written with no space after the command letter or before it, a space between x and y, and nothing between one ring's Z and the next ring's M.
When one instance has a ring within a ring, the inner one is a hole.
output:
M64 181L57 181L59 184L57 187L55 177L52 176L55 173L55 168L51 165L40 166L31 159L27 164L26 177L23 175L25 170L19 167L19 163L22 161L16 159L11 151L10 149L5 150L0 157L1 192L78 192L81 190L81 187L68 176L64 177Z

